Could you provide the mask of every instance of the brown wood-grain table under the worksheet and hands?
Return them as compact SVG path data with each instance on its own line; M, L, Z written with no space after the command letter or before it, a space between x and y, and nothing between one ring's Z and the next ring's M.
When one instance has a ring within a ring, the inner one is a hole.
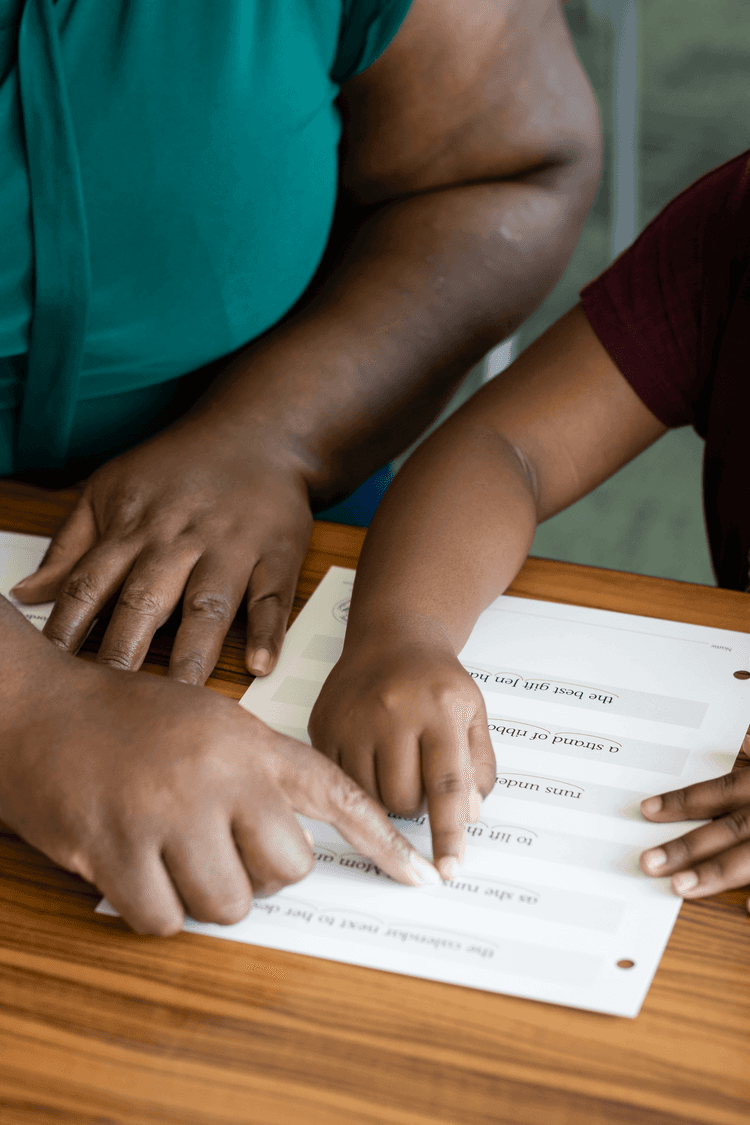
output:
M73 492L0 485L49 534ZM317 524L298 606L363 533ZM512 593L750 631L747 595L530 559ZM96 638L90 646L96 644ZM169 641L150 665L163 670ZM210 686L249 677L233 630ZM39 684L44 690L44 684ZM641 1015L618 1019L182 934L0 840L2 1125L748 1125L746 892L687 902Z

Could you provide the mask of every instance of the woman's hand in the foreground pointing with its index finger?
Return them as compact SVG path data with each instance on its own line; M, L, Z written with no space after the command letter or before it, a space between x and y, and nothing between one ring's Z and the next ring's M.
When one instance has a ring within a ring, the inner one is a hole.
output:
M186 910L237 922L253 896L302 879L313 849L295 812L329 821L401 882L440 882L322 754L214 692L64 655L20 620L0 717L2 818L138 933L177 933Z

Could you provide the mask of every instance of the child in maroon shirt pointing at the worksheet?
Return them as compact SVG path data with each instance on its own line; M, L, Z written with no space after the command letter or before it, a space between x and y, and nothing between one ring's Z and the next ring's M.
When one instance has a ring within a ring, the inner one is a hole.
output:
M744 153L669 204L584 289L581 304L441 426L391 486L362 554L344 655L310 734L391 811L408 816L426 796L443 878L495 780L481 695L457 654L516 575L537 522L668 428L689 423L706 442L704 503L719 583L748 590L749 344ZM750 770L650 798L642 811L659 821L719 818L643 854L642 870L671 875L678 894L750 881Z

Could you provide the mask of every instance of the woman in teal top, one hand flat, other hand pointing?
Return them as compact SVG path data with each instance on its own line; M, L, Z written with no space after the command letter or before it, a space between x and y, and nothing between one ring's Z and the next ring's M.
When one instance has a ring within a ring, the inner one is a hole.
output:
M0 467L92 474L17 587L56 597L54 647L0 605L3 816L156 932L300 878L313 794L412 878L311 752L300 790L288 740L121 670L180 600L172 681L205 682L243 601L270 670L311 508L406 448L559 276L598 166L561 3L0 0Z

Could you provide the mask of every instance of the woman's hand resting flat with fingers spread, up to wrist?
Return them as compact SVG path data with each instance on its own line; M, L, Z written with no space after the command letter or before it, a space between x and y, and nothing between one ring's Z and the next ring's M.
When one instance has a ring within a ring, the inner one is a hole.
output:
M13 590L56 598L46 636L75 652L119 590L98 659L141 667L182 597L169 674L202 684L243 600L246 664L277 662L311 529L307 488L281 443L182 423L93 474L42 566ZM121 588L120 588L121 587Z

